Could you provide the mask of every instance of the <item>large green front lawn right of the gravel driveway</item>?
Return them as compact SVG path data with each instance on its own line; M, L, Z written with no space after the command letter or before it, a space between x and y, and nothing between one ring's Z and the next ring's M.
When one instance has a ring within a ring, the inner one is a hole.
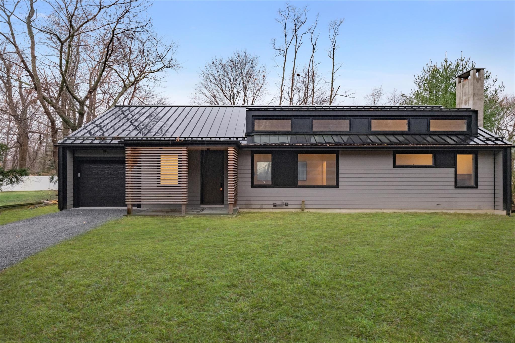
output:
M125 217L2 278L3 341L515 341L515 219Z

